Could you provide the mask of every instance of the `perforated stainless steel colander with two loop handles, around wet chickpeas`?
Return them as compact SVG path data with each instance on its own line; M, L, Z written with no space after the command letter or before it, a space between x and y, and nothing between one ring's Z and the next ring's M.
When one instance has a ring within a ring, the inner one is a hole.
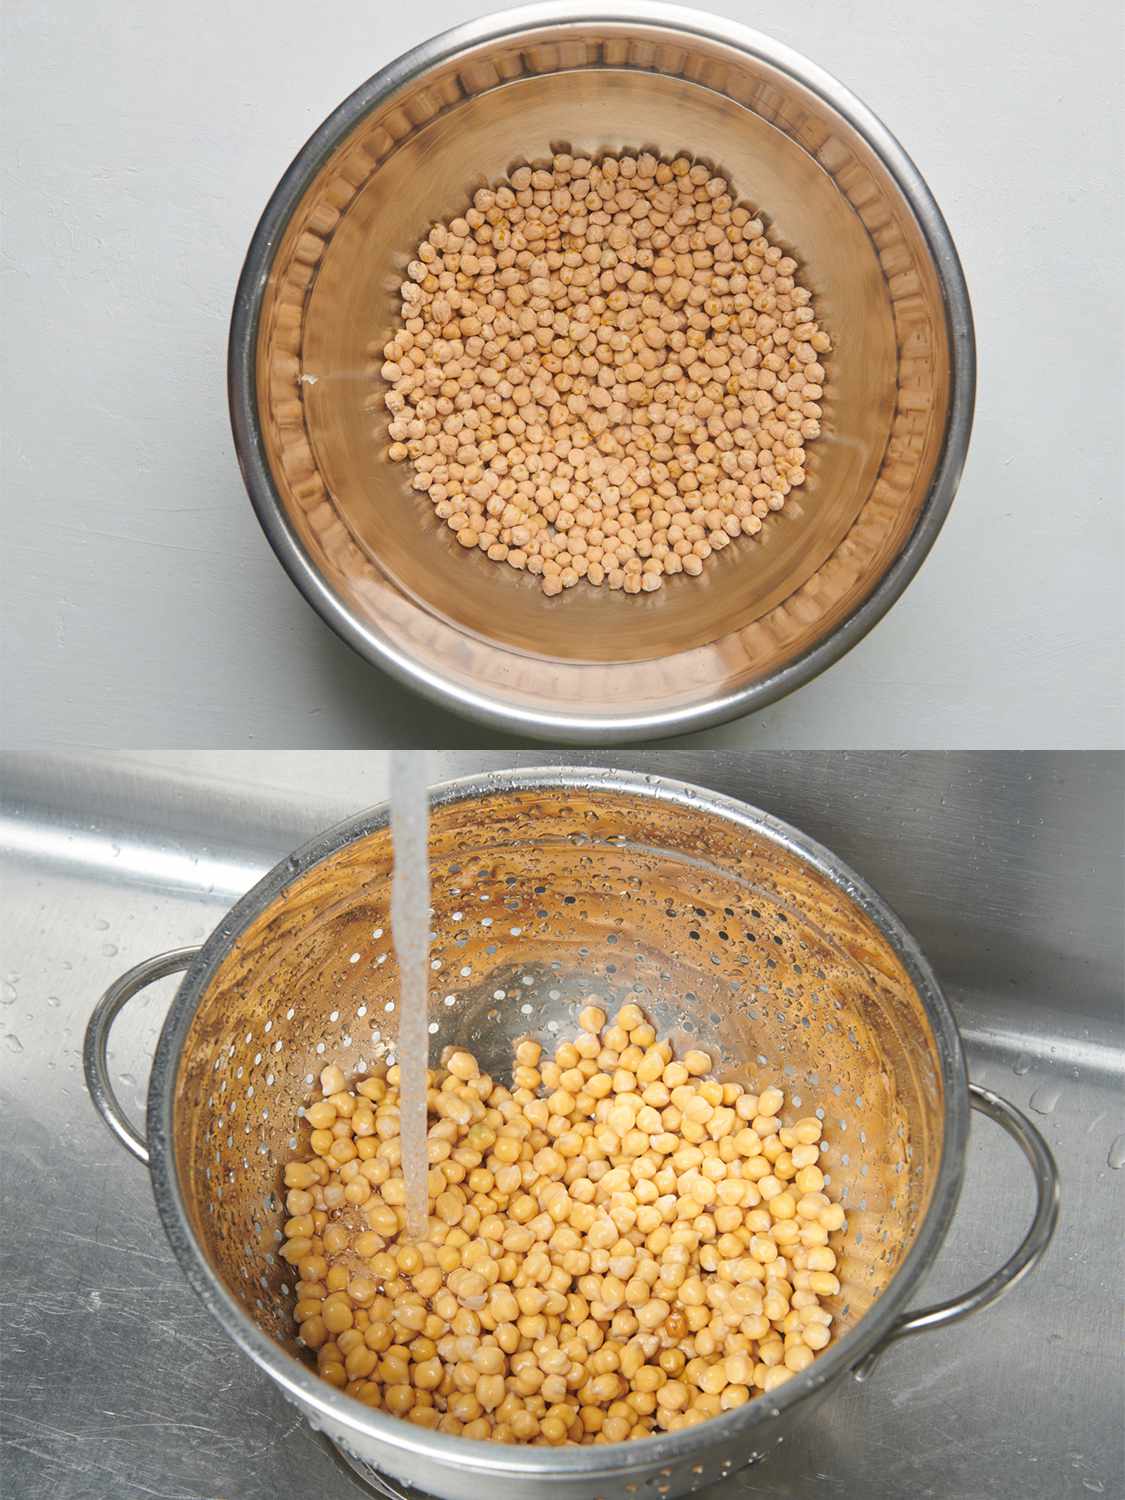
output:
M1038 1131L968 1084L957 1026L902 922L834 855L782 822L676 782L590 770L501 772L434 792L434 1056L470 1047L510 1072L513 1040L573 1032L591 992L639 998L723 1078L778 1080L824 1118L848 1210L837 1340L768 1396L662 1437L512 1448L429 1432L320 1380L278 1257L280 1167L328 1059L394 1050L387 808L330 830L266 876L202 948L138 964L86 1040L90 1094L153 1178L168 1239L231 1338L384 1492L448 1500L680 1496L758 1462L891 1340L994 1300L1046 1250L1054 1164ZM147 1142L114 1098L106 1040L146 984L188 969L148 1088ZM906 1311L956 1209L969 1108L1023 1148L1038 1208L1011 1260L948 1304Z

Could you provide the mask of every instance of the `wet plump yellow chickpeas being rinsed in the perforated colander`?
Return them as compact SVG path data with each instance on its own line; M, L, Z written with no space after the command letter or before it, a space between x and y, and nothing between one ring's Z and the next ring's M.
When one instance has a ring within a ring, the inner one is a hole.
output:
M592 999L592 998L591 998ZM430 1071L428 1238L405 1240L398 1068L321 1074L285 1167L282 1256L320 1374L418 1426L501 1443L672 1432L812 1364L840 1290L820 1122L708 1078L636 1005L588 1004L512 1089Z

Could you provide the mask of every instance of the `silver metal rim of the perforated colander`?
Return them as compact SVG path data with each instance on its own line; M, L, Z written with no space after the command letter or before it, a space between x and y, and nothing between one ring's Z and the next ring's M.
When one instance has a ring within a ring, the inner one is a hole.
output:
M902 962L933 1028L942 1082L942 1152L930 1203L902 1266L855 1328L849 1329L837 1342L830 1344L807 1370L795 1374L768 1398L750 1401L680 1432L633 1438L627 1443L598 1448L552 1449L550 1468L555 1476L592 1480L621 1474L646 1464L682 1462L688 1456L702 1455L722 1440L750 1442L752 1434L771 1418L780 1416L813 1396L830 1382L843 1378L849 1370L856 1368L868 1353L882 1344L933 1263L952 1221L969 1138L969 1083L957 1022L938 976L902 918L836 854L782 819L752 807L748 802L687 782L640 771L585 765L490 771L446 782L430 788L430 806L432 808L444 808L465 801L552 790L608 792L706 813L729 826L764 837L810 864L860 908ZM482 1476L502 1473L531 1480L542 1474L542 1449L460 1438L447 1432L417 1428L386 1412L364 1407L360 1401L327 1384L315 1371L286 1353L258 1328L212 1269L192 1232L180 1191L172 1150L176 1082L184 1041L214 972L238 936L270 903L282 896L288 885L348 844L386 828L390 804L381 802L316 834L262 876L231 908L200 948L180 982L160 1030L148 1082L146 1126L153 1196L168 1242L188 1282L204 1306L242 1352L314 1420L330 1424L336 1432L356 1434L402 1454L422 1454L446 1467L470 1468Z

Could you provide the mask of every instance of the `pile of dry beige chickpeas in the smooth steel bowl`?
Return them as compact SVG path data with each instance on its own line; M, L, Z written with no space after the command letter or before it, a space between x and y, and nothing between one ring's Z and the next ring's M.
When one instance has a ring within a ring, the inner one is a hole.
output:
M390 458L464 548L638 594L804 483L831 340L796 261L686 156L555 156L435 224L384 346Z

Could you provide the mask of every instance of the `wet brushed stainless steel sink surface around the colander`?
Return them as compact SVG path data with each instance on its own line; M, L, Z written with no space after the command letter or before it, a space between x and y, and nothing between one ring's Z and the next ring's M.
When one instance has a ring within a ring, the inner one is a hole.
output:
M867 1386L830 1398L807 1443L708 1500L1120 1494L1125 758L508 752L435 754L432 776L561 759L644 762L834 848L921 940L956 1000L972 1077L1030 1106L1062 1174L1062 1221L1032 1280L987 1318L896 1347ZM90 1107L80 1052L117 974L198 942L279 855L380 801L382 758L8 756L0 770L8 1492L368 1494L196 1304L147 1174ZM138 1118L171 988L138 999L114 1030ZM1014 1246L1032 1208L1017 1162L1005 1136L974 1125L927 1296L962 1290Z

